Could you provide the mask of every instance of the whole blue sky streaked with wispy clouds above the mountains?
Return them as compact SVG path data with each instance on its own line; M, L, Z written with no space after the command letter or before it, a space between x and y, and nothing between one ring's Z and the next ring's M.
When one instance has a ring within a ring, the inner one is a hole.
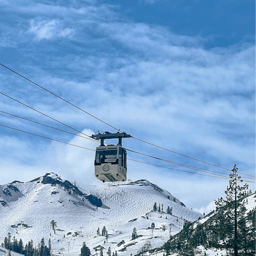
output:
M228 169L237 164L239 171L255 175L254 5L0 0L0 62L133 137ZM3 67L0 78L1 92L79 131L115 132ZM0 110L72 132L3 95ZM0 124L97 146L1 113ZM46 172L99 183L93 152L4 127L0 132L1 183ZM225 172L134 139L124 146ZM177 168L133 153L129 157ZM128 178L155 182L206 212L227 186L227 180L134 162L129 162Z

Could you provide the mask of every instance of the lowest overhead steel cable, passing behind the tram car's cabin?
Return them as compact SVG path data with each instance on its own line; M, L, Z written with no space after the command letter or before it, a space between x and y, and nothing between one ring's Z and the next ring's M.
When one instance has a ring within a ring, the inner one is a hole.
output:
M41 136L41 135L38 135L38 134L35 134L35 133L31 133L31 132L26 132L26 131L22 131L22 130L19 130L19 129L15 129L15 128L10 127L10 126L6 126L6 125L2 125L2 124L0 124L0 126L6 127L6 128L9 128L9 129L12 129L12 130L16 130L16 131L28 133L28 134L31 134L31 135L35 135L35 136L37 136L37 137L41 137L41 138L44 138L44 139L48 139L48 140L53 140L53 141L61 142L61 143L64 143L64 144L67 144L67 145L70 145L70 146L74 146L74 147L78 147L78 148L83 148L83 149L87 149L87 150L94 151L94 149L91 149L91 148L85 148L85 147L78 146L78 145L74 145L74 144L71 144L71 143L68 143L68 142L63 142L63 141L60 141L60 140L51 139L51 138L44 137L44 136ZM134 161L134 162L140 162L140 163L143 163L143 164L154 165L154 166L163 167L163 168L166 168L166 169L175 170L175 171L180 171L180 172L187 172L187 173L192 173L192 174L197 174L197 175L203 175L203 176L212 177L212 178L226 179L226 180L229 180L229 179L230 179L230 178L227 178L227 177L222 178L222 177L212 176L212 175L207 175L207 174L202 174L202 173L195 173L195 172L188 172L188 171L173 169L173 168L170 168L170 167L161 166L161 165L155 165L155 164L150 164L150 163L146 163L146 162L142 162L142 161L137 161L137 160L130 159L130 158L127 158L127 159L129 159L129 160L131 160L131 161ZM217 175L217 174L214 174L214 175ZM246 181L246 180L244 180L244 181ZM253 181L246 181L246 182L256 183L256 182L253 182Z

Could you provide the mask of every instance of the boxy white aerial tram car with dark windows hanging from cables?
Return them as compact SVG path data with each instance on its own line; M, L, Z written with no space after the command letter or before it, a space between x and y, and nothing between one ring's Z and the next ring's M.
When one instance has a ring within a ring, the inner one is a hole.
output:
M93 134L93 139L100 140L100 146L95 149L94 175L102 182L126 181L127 179L127 152L122 147L123 138L131 135L123 133ZM106 139L118 139L118 144L104 145Z

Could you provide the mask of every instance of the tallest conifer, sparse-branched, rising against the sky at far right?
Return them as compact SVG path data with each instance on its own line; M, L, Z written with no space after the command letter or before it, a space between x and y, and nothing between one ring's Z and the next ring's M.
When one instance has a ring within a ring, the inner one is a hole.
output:
M225 237L223 243L226 245L226 249L229 250L229 254L234 256L238 256L238 252L243 250L243 246L241 244L241 228L246 209L242 199L246 195L246 192L243 192L243 190L248 188L247 184L244 186L238 185L238 182L242 182L243 180L241 180L241 177L237 175L237 170L238 169L235 165L232 170L233 173L229 175L229 186L225 191L226 200L221 197L215 201L217 209L221 211L225 217L222 218L219 225L221 225L222 228L225 228L227 233L230 234L230 236Z

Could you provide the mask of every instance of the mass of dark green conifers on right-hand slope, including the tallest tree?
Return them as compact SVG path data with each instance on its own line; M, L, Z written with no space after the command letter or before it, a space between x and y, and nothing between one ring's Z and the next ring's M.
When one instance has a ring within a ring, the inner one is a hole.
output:
M256 255L256 209L246 214L247 185L239 186L241 180L236 166L230 174L226 199L215 201L217 210L211 212L204 223L185 221L183 230L170 236L162 249L166 254L179 253L182 256L193 256L199 252L196 247L225 249L228 255Z

